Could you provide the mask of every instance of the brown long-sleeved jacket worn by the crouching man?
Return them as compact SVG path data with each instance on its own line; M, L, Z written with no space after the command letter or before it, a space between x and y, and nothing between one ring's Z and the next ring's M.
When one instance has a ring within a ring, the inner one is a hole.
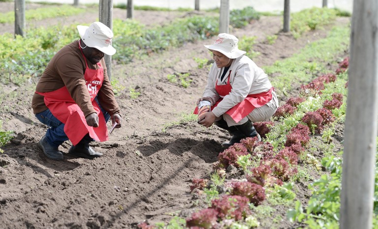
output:
M87 64L92 69L98 67L97 65L92 65L89 61L87 61ZM97 94L98 101L110 115L120 113L120 108L106 73L104 59L101 59L101 65L104 68L104 81ZM77 40L73 41L59 50L51 59L39 79L35 91L52 92L66 86L69 94L79 105L85 116L95 113L84 79L85 68L85 61L79 49L79 43ZM34 93L32 98L34 114L47 110L43 98L43 96Z

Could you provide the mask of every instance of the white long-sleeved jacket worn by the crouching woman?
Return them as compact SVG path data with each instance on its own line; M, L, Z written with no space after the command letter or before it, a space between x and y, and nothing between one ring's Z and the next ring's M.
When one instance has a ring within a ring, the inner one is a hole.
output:
M231 70L231 93L225 96L218 106L212 110L217 117L220 117L227 110L243 101L248 95L267 92L272 87L267 74L247 56L243 55L234 59L221 82L220 78L223 69L223 67L218 68L215 64L211 66L207 77L207 86L203 93L203 97L211 97L214 102L218 101L221 97L215 90L217 79L218 85L225 85Z

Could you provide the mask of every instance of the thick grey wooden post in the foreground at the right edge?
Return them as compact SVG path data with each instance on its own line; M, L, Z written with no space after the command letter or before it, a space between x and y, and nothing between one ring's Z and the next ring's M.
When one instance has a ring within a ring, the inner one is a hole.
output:
M340 229L372 229L378 116L378 3L354 0Z

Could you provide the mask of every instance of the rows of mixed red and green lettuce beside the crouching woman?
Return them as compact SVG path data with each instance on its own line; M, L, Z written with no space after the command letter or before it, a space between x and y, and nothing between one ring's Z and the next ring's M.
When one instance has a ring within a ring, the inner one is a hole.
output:
M326 129L332 129L337 122L344 122L348 59L339 66L336 74L323 74L302 85L301 96L289 98L280 106L274 115L274 122L254 123L264 141L258 141L257 137L246 138L219 154L219 160L213 166L216 177L224 177L226 169L232 165L243 169L245 179L233 179L225 184L214 182L216 179L213 177L212 182L203 178L192 179L191 192L206 195L212 193L212 199L209 207L186 218L185 227L258 227L259 221L253 213L258 211L258 206L265 201L266 196L275 196L279 203L292 202L295 198L291 191L293 182L303 179L298 173L298 168L303 169L312 164L317 169L321 169L322 166L331 169L332 173L329 176L323 175L312 184L313 195L306 212L299 201L296 201L295 205L288 204L294 206L289 211L288 218L290 221L303 222L312 229L338 228L341 187L340 181L335 181L334 176L337 172L341 175L341 159L329 156L323 158L320 164L307 152L307 148L314 134L327 135ZM330 93L332 89L336 92ZM324 144L330 143L331 135L322 137ZM218 196L218 189L214 184L224 185L224 194ZM154 229L157 226L142 222L139 228Z

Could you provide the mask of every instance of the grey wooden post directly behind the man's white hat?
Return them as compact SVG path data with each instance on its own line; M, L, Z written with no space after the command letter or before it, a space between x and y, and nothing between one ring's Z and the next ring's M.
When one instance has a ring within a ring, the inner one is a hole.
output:
M100 0L99 20L111 30L113 30L113 0ZM112 56L105 54L105 64L109 79L112 75Z

